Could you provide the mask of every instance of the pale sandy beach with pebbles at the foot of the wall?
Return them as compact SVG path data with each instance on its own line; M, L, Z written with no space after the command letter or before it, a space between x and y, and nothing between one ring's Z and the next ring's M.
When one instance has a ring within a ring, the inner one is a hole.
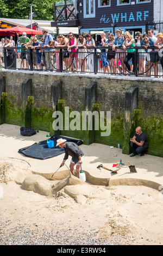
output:
M131 159L122 150L110 149L110 145L81 145L85 154L83 170L92 177L110 178L108 170L97 169L101 163L111 168L122 159L126 167L111 177L111 186L80 184L72 178L73 184L66 184L57 193L40 194L34 192L36 186L49 187L50 191L61 181L48 180L43 174L55 172L64 154L38 160L18 153L18 149L44 141L46 134L40 131L23 137L20 126L0 125L0 245L163 245L161 191L153 185L130 184L134 177L146 180L144 184L153 181L163 185L161 157ZM129 178L128 161L137 170ZM69 166L70 158L66 164ZM63 170L67 168L59 172ZM29 186L26 190L22 182L28 177L34 177L35 188ZM123 185L114 185L116 177L123 180Z

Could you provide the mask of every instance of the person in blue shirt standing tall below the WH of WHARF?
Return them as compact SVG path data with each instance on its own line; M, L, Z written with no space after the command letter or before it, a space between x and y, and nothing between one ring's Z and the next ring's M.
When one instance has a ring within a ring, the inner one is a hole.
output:
M122 47L123 44L123 36L122 31L120 28L116 30L116 38L114 41L114 45L112 45L112 50L115 50L115 47ZM121 49L116 49L116 55L115 55L115 67L116 67L116 73L120 73L120 70L118 69L118 62L123 64L124 58L126 57L126 51ZM124 64L123 64L124 66ZM123 73L126 73L126 70L123 69Z

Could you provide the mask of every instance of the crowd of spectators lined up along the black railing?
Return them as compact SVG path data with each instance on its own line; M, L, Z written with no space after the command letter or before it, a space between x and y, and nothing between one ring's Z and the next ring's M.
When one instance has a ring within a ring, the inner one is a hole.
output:
M106 34L101 33L101 42L95 42L91 34L84 37L80 33L76 37L69 33L67 36L58 35L54 39L47 29L43 29L39 40L36 36L29 38L23 32L22 36L18 36L16 44L12 36L1 39L0 65L5 62L7 68L16 68L17 59L17 62L21 62L22 69L29 69L33 65L35 70L92 74L98 59L103 74L135 75L137 70L140 76L151 76L153 69L154 76L158 77L159 60L163 69L163 57L158 57L158 50L163 47L163 34L154 36L153 29L148 29L146 34L136 32L135 36L136 40L129 32L122 35L121 29L117 29L116 36L109 33L106 38ZM154 46L157 48L152 49ZM17 48L15 50L12 47ZM96 59L95 47L98 56Z

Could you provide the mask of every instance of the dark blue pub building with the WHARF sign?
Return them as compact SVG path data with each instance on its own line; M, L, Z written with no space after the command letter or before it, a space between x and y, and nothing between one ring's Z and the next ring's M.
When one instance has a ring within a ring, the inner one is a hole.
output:
M142 34L145 33L146 23L153 22L154 4L159 5L160 0L69 0L55 2L55 21L51 22L51 26L78 27L79 33L84 35L90 33L95 40L100 40L102 32L106 35L108 33L115 35L116 29L121 28L122 33L129 31L135 38L137 31ZM160 14L161 8L160 6ZM160 14L158 14L158 20Z

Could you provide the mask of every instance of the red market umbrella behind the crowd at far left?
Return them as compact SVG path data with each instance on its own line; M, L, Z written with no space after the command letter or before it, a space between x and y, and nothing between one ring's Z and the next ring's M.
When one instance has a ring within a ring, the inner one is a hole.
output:
M16 35L20 34L22 35L23 32L26 32L28 35L36 35L42 34L42 31L37 31L35 29L30 29L30 28L23 28L23 27L12 27L12 28L5 28L0 30L0 35Z

